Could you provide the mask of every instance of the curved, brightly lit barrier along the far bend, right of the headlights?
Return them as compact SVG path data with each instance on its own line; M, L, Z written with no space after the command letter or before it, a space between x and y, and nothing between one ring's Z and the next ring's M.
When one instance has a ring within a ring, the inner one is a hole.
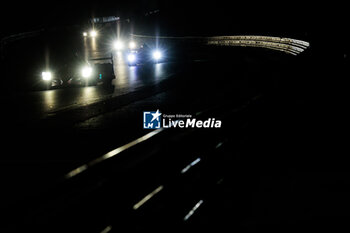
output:
M310 43L292 38L282 38L273 36L254 36L254 35L237 35L237 36L212 36L212 37L165 37L165 36L147 36L135 35L131 37L137 40L172 40L188 41L199 45L208 46L240 46L240 47L258 47L267 48L285 52L287 54L298 55L304 52Z

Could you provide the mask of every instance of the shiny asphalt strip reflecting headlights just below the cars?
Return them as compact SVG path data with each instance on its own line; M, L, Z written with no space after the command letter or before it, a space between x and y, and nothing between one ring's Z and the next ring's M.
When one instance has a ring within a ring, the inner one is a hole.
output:
M15 92L2 98L3 106L12 109L12 118L40 119L59 111L81 107L108 98L125 95L144 87L154 86L179 72L171 63L129 67L115 63L116 79L106 88L98 84L89 87L62 87L52 90ZM11 114L10 112L10 114Z

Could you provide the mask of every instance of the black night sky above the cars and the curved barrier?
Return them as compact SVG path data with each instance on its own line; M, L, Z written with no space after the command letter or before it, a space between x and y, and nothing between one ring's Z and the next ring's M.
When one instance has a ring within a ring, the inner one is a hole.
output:
M321 4L223 0L12 1L2 7L6 14L1 14L0 26L3 37L52 25L79 23L92 15L135 17L160 9L159 24L166 34L295 34L296 38L305 39L311 33L329 35L337 31L335 26L340 23L336 17L342 14L336 11L342 7Z

